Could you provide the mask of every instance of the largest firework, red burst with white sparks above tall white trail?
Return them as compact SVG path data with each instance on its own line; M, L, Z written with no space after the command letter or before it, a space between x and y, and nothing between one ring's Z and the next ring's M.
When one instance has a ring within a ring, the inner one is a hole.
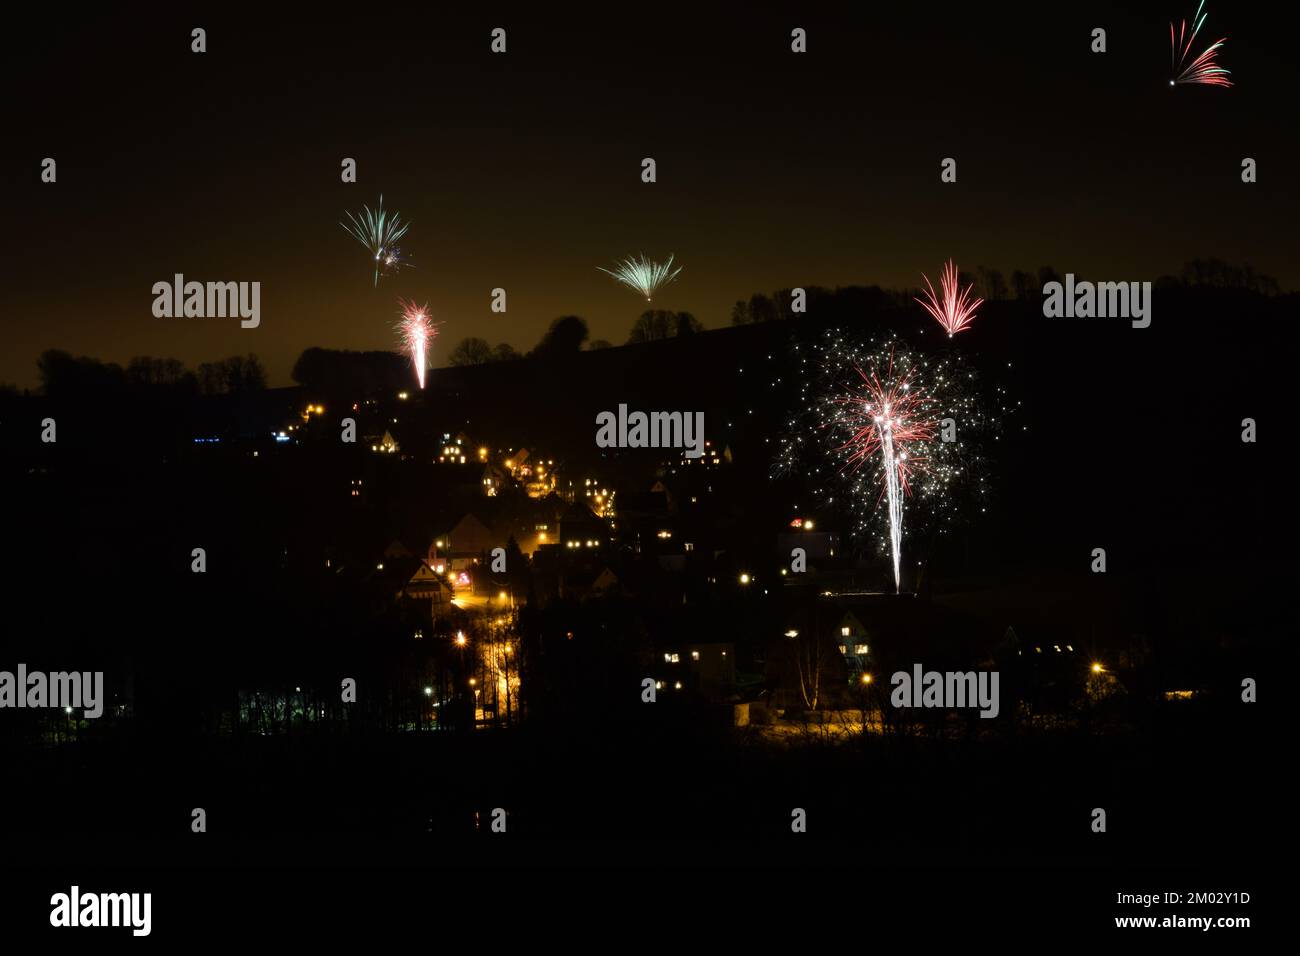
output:
M774 471L806 481L854 537L879 541L900 591L905 509L907 540L922 542L950 531L968 503L983 510L983 444L1006 418L1004 392L984 395L957 355L931 358L896 338L859 346L831 332L796 351L798 403Z

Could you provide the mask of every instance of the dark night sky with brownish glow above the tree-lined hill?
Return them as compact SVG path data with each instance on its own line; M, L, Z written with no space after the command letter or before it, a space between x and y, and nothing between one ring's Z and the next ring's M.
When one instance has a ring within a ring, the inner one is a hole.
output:
M1193 7L38 14L3 66L0 381L35 385L61 347L254 351L287 384L304 347L393 347L398 295L430 303L443 354L471 334L526 349L566 313L620 343L642 306L595 267L637 251L677 255L656 304L710 328L753 291L910 286L948 256L1101 280L1217 256L1295 287L1292 23L1212 3L1202 36L1228 35L1238 85L1171 90L1167 20ZM381 191L416 268L374 290L338 221ZM261 328L155 319L174 272L260 281Z

